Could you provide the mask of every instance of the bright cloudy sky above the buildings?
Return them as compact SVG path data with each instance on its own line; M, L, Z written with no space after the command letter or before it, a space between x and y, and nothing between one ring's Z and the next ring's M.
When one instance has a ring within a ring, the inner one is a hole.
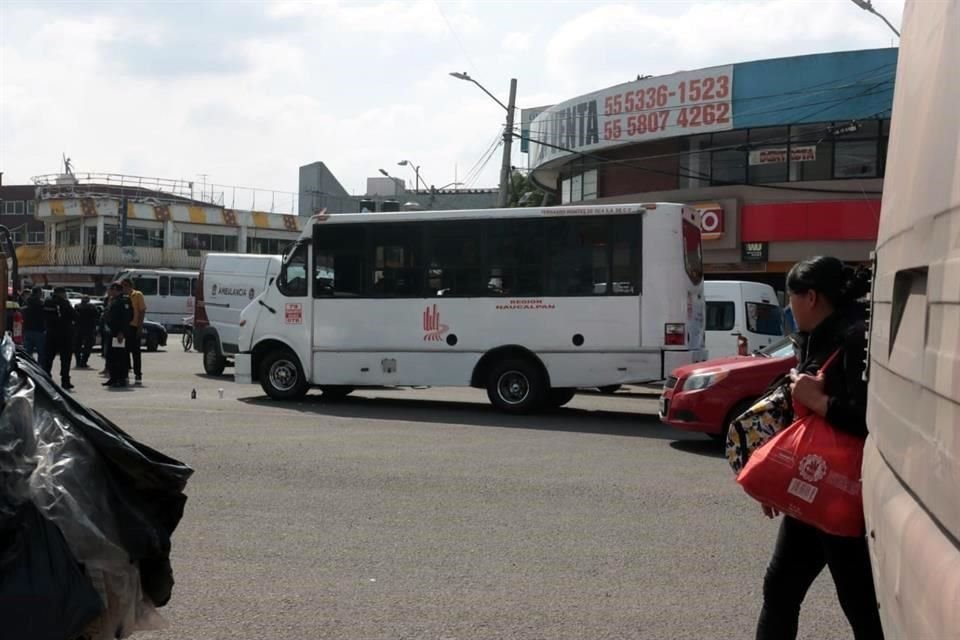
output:
M874 0L896 27L903 0ZM850 0L0 0L4 184L62 168L297 191L495 187L510 78L549 105L637 75L896 44ZM519 114L518 114L519 120ZM512 164L526 166L514 145ZM483 160L488 158L484 164Z

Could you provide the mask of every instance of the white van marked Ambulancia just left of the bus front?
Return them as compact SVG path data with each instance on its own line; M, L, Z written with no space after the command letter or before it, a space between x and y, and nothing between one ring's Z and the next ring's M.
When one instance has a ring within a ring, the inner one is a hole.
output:
M193 344L203 370L218 376L237 352L240 312L280 273L280 256L208 253L200 264Z

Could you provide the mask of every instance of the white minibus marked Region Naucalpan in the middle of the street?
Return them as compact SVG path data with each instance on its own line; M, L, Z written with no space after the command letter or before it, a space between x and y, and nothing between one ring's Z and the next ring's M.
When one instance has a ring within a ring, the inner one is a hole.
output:
M473 386L512 412L661 380L706 357L699 224L678 204L315 216L241 315L236 379Z

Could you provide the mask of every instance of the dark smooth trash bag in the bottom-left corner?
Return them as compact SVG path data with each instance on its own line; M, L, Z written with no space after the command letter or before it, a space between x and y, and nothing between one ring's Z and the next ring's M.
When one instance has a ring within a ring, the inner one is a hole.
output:
M0 534L0 640L74 640L103 602L56 525L30 502Z

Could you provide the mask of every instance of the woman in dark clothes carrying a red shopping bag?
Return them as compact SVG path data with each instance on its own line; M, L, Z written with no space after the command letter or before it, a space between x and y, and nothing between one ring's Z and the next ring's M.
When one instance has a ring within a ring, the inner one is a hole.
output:
M870 289L869 274L836 258L810 258L791 269L787 289L799 330L799 364L791 374L794 401L832 427L865 438L866 309L858 300ZM834 363L817 377L836 351ZM779 515L768 506L763 511L770 518ZM833 576L854 638L883 638L866 538L831 535L784 516L763 582L757 640L797 637L800 606L824 567Z

